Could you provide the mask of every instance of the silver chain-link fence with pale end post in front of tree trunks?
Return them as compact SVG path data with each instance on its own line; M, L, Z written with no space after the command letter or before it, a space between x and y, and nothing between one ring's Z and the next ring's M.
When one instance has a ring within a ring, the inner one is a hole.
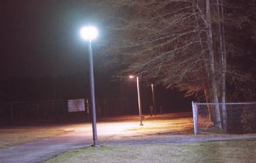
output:
M256 133L255 103L193 103L194 134Z

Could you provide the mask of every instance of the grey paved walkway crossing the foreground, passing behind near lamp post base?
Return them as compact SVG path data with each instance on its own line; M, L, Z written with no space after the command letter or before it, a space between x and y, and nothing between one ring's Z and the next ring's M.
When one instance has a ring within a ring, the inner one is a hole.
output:
M255 138L249 136L148 136L139 138L118 138L112 141L98 141L101 145L124 145L124 144L151 144L151 143L187 143L219 140L241 140L244 138ZM90 147L93 143L91 136L81 134L79 131L64 134L53 138L35 141L24 145L0 150L0 162L42 162L56 155L76 148Z

